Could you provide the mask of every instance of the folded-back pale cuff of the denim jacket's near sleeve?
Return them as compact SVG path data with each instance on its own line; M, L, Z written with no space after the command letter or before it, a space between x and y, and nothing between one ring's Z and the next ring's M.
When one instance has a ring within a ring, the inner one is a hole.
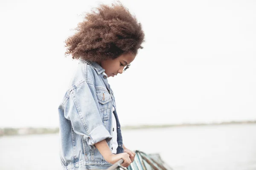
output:
M89 136L84 136L84 140L89 144L90 149L95 149L94 144L106 139L107 142L111 141L112 136L105 128L104 125L100 125L94 128Z

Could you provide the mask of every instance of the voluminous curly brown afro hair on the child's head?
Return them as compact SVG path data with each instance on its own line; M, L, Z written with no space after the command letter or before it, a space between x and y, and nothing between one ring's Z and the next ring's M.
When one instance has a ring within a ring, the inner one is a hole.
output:
M142 26L121 3L102 4L86 13L84 19L75 29L77 32L65 40L66 56L97 62L130 52L136 55L143 48Z

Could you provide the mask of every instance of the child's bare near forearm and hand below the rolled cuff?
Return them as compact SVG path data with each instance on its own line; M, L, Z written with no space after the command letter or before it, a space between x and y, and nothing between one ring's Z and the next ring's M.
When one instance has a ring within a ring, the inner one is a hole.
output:
M123 167L128 167L131 164L131 159L129 158L128 153L113 154L110 148L108 147L106 140L102 140L96 143L95 146L99 150L99 152L102 154L104 159L109 163L114 164L120 159L123 159L124 160L122 163Z

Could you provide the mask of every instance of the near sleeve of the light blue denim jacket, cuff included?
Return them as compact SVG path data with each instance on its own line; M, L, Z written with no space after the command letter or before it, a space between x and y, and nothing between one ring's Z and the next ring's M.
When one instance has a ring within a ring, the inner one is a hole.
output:
M70 91L64 104L65 118L71 121L75 133L83 136L91 149L97 142L112 139L102 123L96 101L95 88L90 88L84 81Z

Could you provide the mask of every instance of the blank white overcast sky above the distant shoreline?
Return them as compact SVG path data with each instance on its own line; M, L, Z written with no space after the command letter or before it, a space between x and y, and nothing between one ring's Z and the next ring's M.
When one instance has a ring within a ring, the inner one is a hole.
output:
M91 0L0 1L0 127L58 127L77 62L64 40ZM121 125L256 118L256 1L121 0L144 49L108 78Z

